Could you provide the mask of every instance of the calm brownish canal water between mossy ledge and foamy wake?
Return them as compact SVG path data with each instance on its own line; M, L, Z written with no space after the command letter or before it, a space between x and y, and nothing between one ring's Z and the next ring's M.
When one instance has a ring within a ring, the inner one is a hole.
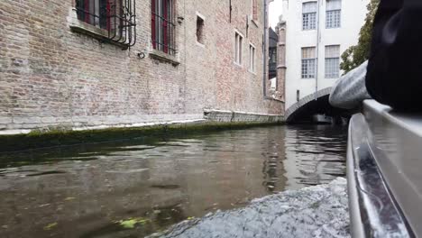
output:
M258 127L0 154L0 237L143 237L345 175L345 127Z

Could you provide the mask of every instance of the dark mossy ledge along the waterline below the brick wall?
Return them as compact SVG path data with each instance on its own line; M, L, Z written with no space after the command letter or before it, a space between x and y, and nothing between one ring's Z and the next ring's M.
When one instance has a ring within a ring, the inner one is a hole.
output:
M162 140L180 135L245 129L277 123L216 123L200 120L191 123L157 124L131 128L108 128L84 131L50 131L26 134L0 135L0 152L71 146L92 142L115 142L118 140Z

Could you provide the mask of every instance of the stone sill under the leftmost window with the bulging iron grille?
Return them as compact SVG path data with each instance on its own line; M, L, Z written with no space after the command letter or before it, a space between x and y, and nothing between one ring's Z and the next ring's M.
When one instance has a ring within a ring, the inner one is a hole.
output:
M98 28L94 25L79 21L78 19L76 19L74 17L71 18L71 21L69 23L69 27L70 27L70 30L72 32L78 32L78 33L83 33L83 34L89 35L93 38L96 38L98 41L114 44L114 45L122 48L122 50L128 49L128 46L125 45L125 44L120 44L116 41L111 41L108 37L108 32L106 30Z

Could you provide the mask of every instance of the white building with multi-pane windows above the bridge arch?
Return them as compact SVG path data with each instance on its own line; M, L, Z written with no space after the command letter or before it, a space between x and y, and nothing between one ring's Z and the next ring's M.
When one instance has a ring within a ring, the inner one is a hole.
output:
M283 1L288 109L343 74L340 55L357 44L369 0Z

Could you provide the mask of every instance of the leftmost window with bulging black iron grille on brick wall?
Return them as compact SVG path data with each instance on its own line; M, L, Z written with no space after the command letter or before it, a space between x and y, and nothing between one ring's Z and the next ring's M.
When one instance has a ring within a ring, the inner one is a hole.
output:
M136 42L135 0L76 0L78 20L107 33L108 40L131 47Z

